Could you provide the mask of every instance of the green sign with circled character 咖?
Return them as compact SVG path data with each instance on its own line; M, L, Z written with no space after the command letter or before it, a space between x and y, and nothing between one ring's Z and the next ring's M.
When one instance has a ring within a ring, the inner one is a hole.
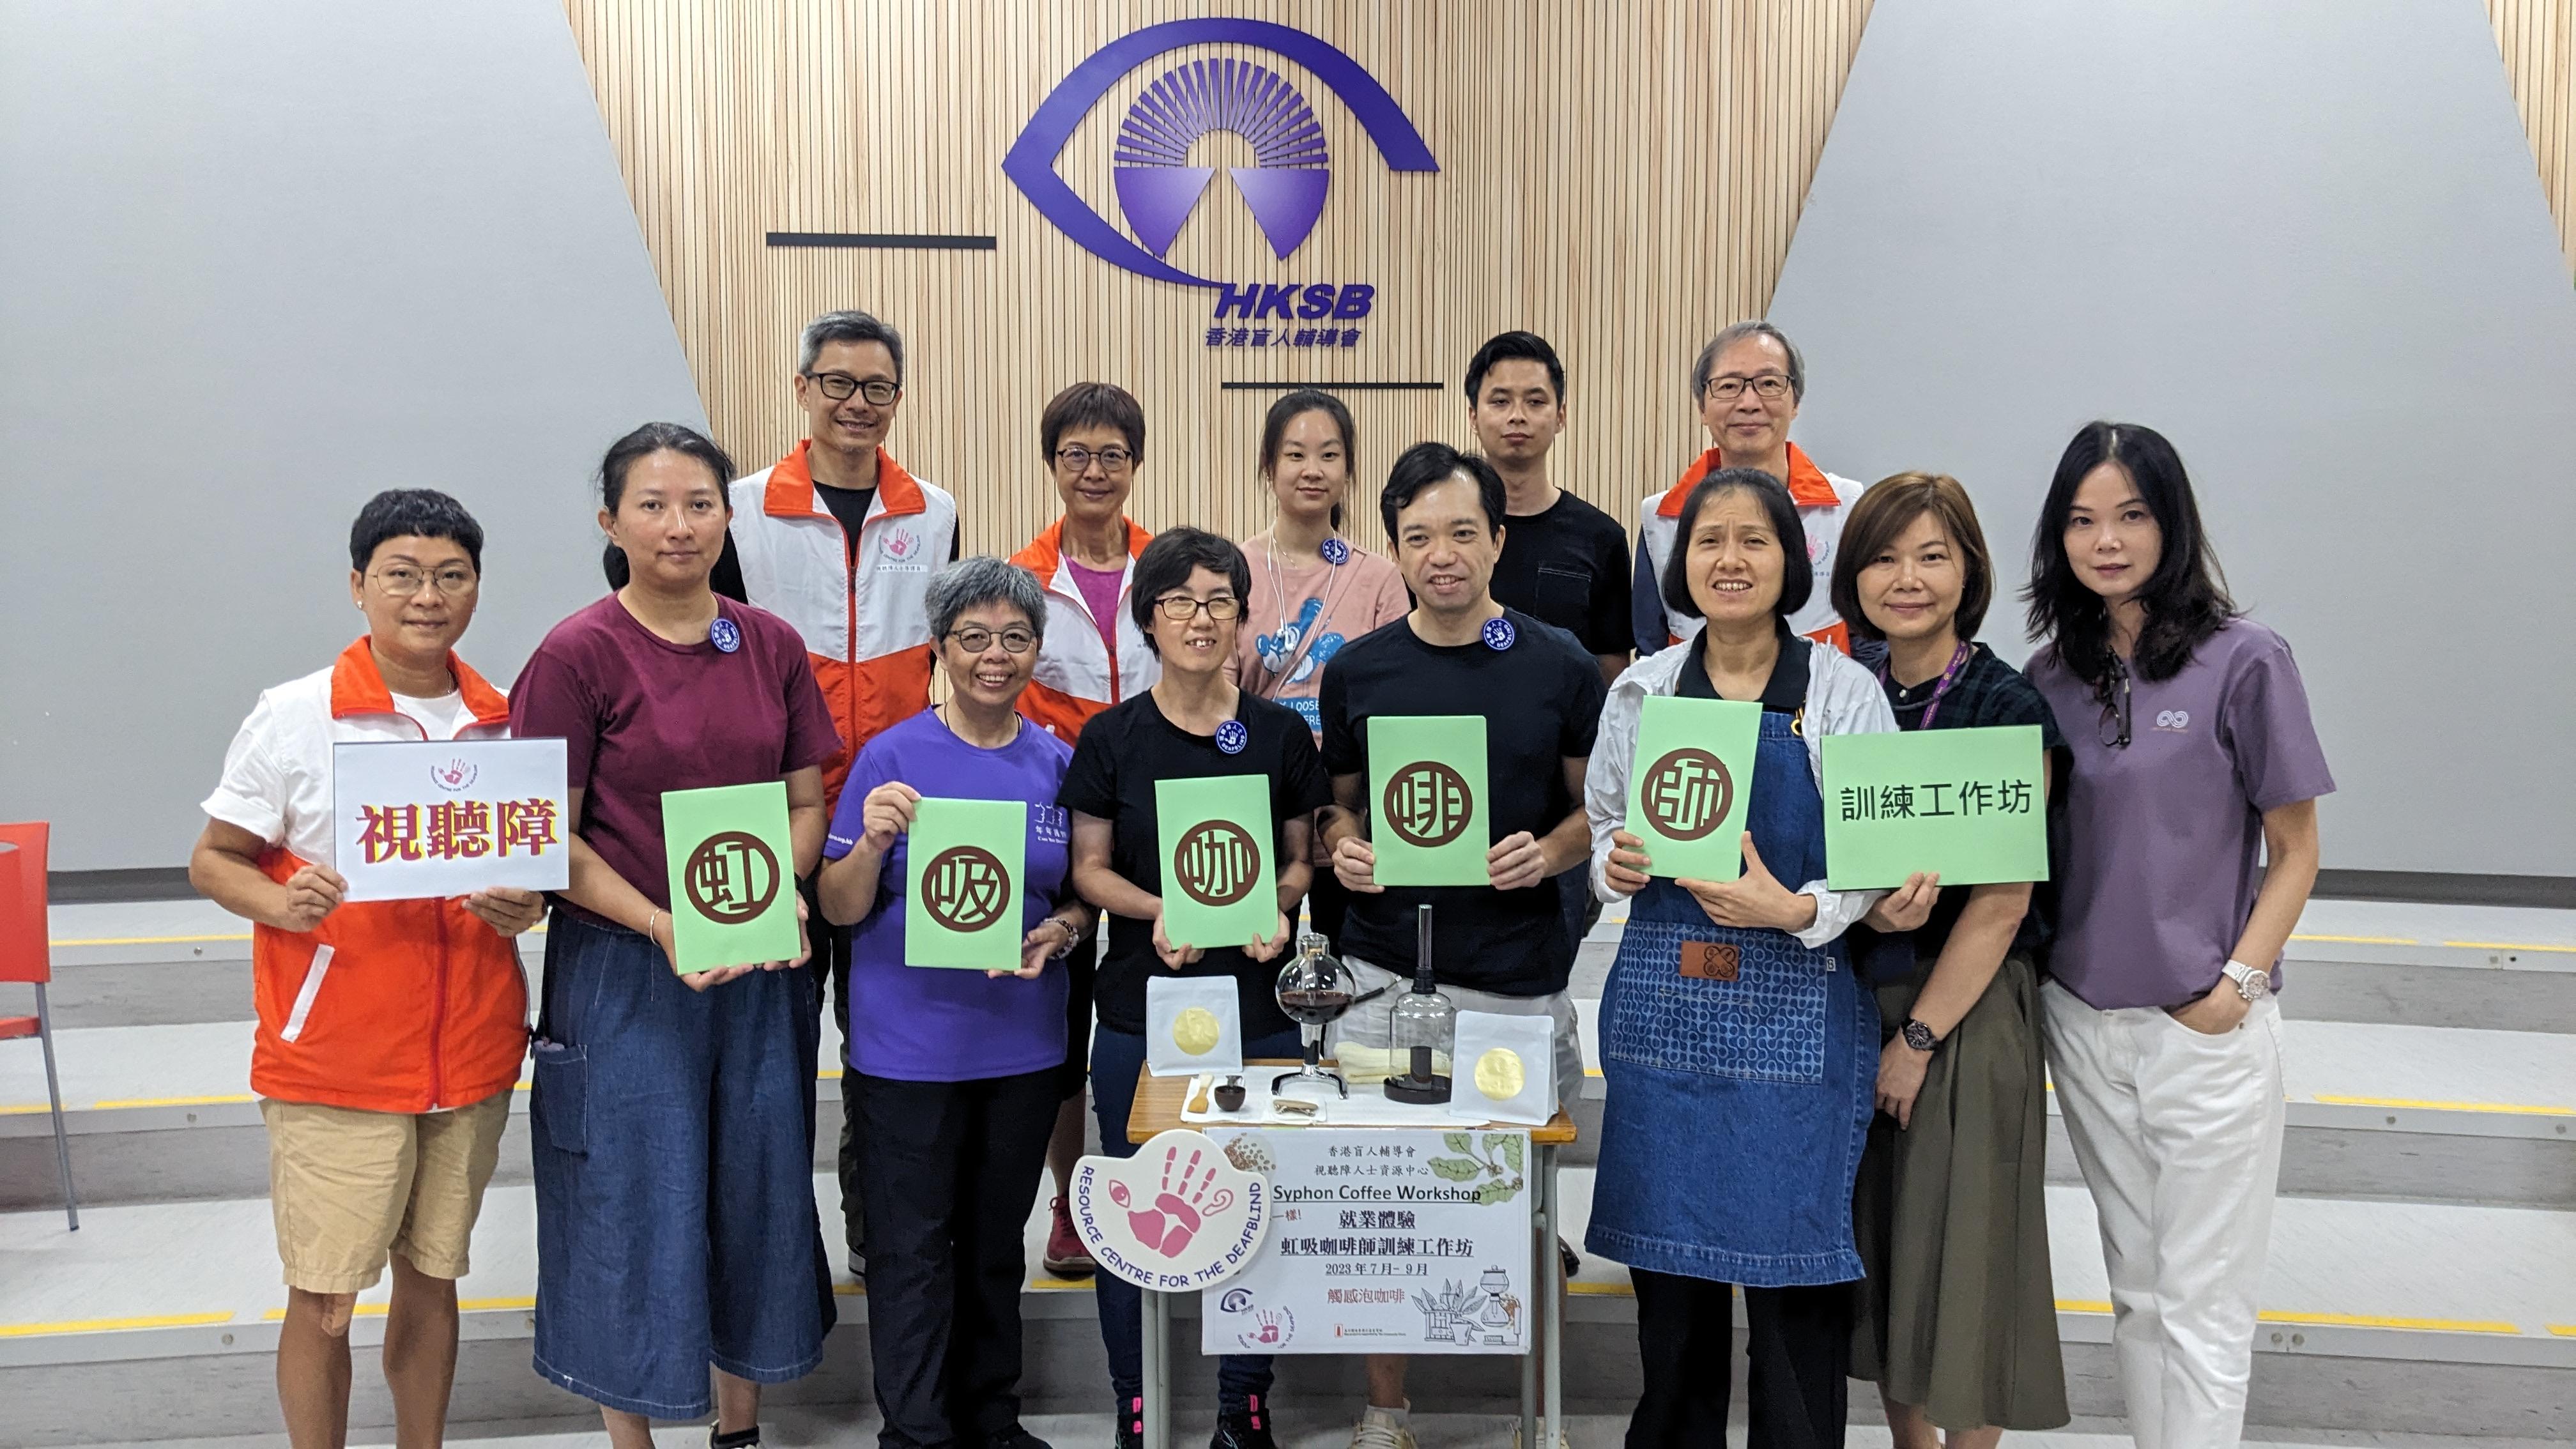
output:
M1154 781L1162 933L1175 946L1247 946L1280 928L1270 776Z

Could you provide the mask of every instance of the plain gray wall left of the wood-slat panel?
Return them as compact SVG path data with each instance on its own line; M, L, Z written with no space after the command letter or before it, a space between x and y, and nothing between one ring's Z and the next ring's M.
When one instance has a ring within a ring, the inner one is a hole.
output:
M611 438L703 425L559 5L0 0L0 817L175 866L358 637L381 487L482 518L464 655L598 598Z

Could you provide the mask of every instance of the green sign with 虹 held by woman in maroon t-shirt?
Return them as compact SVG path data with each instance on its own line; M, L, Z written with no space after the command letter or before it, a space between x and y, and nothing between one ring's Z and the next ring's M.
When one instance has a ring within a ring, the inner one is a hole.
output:
M796 848L783 781L662 792L680 975L793 962Z

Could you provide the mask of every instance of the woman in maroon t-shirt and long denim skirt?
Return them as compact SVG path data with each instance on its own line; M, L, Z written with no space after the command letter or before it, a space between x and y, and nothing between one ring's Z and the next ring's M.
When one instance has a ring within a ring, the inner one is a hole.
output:
M809 1374L832 1328L804 951L675 969L662 792L783 781L778 866L806 874L840 748L796 632L708 590L732 472L677 423L618 438L600 526L629 580L510 691L515 737L564 740L577 830L536 1026L536 1372L598 1403L616 1449L708 1408L719 1449L757 1444L760 1385Z

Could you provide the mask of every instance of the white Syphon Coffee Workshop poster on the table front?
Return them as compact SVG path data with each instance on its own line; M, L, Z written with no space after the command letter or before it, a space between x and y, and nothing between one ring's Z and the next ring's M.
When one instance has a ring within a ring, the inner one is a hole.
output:
M1275 1222L1231 1284L1200 1294L1203 1354L1528 1351L1538 1302L1528 1132L1211 1127L1208 1137L1270 1178Z

